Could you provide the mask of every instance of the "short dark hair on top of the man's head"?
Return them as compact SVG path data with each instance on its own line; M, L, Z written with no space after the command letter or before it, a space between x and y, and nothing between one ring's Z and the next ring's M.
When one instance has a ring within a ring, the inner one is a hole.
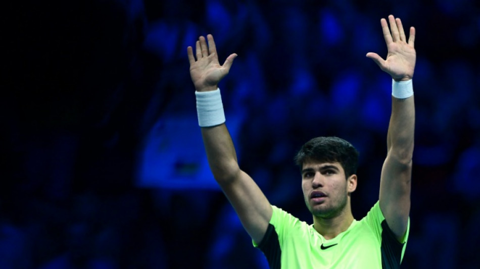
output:
M303 164L316 162L338 162L345 171L345 177L357 173L358 151L348 141L334 137L315 137L305 143L295 156L295 163L302 169Z

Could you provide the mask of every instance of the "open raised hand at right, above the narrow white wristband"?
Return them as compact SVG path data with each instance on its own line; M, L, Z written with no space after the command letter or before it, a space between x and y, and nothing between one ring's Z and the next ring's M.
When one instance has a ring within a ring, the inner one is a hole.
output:
M368 52L367 57L372 59L381 70L389 73L396 81L404 81L413 78L415 70L416 52L414 48L415 28L410 27L410 34L405 36L402 21L393 15L389 16L390 29L386 19L381 19L383 37L387 43L387 59L383 60L375 52Z

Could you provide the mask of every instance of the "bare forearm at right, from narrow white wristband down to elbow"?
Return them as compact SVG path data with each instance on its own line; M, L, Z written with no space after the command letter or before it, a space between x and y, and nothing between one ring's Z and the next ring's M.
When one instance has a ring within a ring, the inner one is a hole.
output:
M413 155L415 131L414 97L392 96L392 115L387 136L388 154L404 164L410 163Z

